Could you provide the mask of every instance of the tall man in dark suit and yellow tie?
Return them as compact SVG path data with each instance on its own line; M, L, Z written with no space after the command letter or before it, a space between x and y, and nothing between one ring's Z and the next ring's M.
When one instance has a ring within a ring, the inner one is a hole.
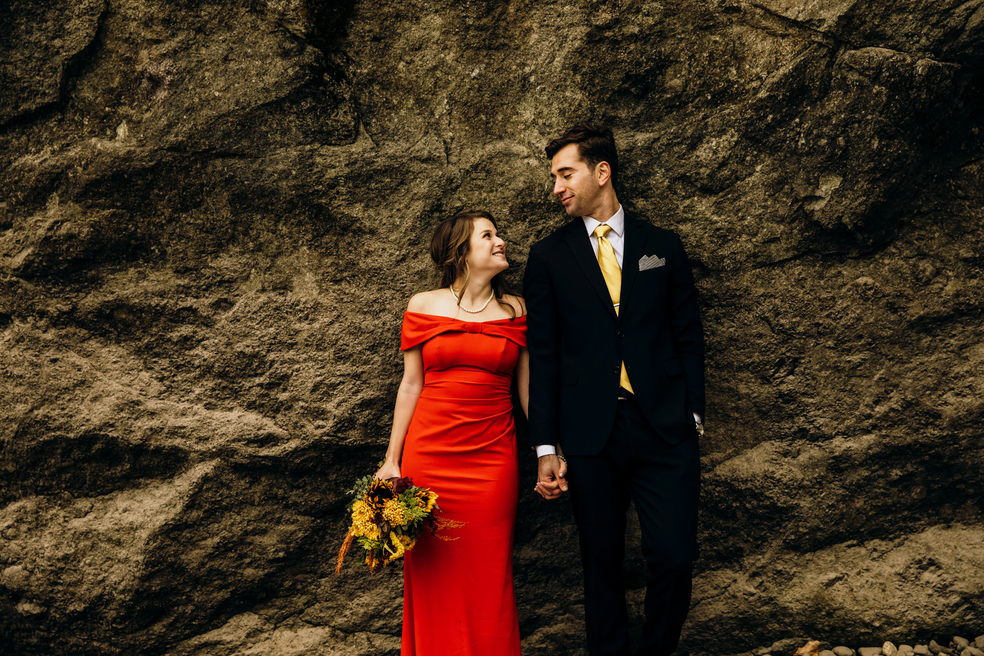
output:
M650 575L637 654L663 656L679 641L697 558L697 290L680 238L623 212L611 129L582 123L546 153L572 221L533 244L523 278L537 492L556 498L570 484L590 656L630 654L622 561L635 502Z

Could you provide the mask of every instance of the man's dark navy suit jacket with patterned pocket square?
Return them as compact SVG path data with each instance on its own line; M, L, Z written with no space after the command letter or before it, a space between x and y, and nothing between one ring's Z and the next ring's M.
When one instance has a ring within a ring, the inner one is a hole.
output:
M665 259L640 271L644 256ZM649 423L676 444L704 417L704 330L675 232L626 215L616 315L580 218L529 249L523 275L529 346L529 442L601 451L615 423L619 371Z

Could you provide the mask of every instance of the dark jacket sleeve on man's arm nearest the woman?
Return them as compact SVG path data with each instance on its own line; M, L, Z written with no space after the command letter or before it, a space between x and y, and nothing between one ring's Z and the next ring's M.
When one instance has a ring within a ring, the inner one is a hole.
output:
M557 444L560 335L550 275L535 247L523 274L526 343L529 348L529 443Z

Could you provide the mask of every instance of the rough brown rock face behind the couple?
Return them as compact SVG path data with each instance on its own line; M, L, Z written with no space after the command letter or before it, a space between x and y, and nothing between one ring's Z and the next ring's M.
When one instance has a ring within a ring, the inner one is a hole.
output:
M542 147L583 117L702 295L681 651L984 630L984 4L5 7L11 653L398 653L399 578L330 572L401 311L461 207L519 281L565 221ZM584 654L570 509L521 465L524 653ZM637 626L644 577L630 549Z

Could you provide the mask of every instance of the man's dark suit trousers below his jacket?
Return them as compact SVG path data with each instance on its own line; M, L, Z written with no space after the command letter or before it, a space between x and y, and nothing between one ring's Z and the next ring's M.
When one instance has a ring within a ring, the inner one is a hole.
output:
M567 456L567 478L584 564L584 623L590 656L628 656L629 621L622 572L630 498L642 527L648 568L646 624L639 656L676 649L690 610L697 559L701 460L695 436L663 440L634 398L620 400L600 453Z

